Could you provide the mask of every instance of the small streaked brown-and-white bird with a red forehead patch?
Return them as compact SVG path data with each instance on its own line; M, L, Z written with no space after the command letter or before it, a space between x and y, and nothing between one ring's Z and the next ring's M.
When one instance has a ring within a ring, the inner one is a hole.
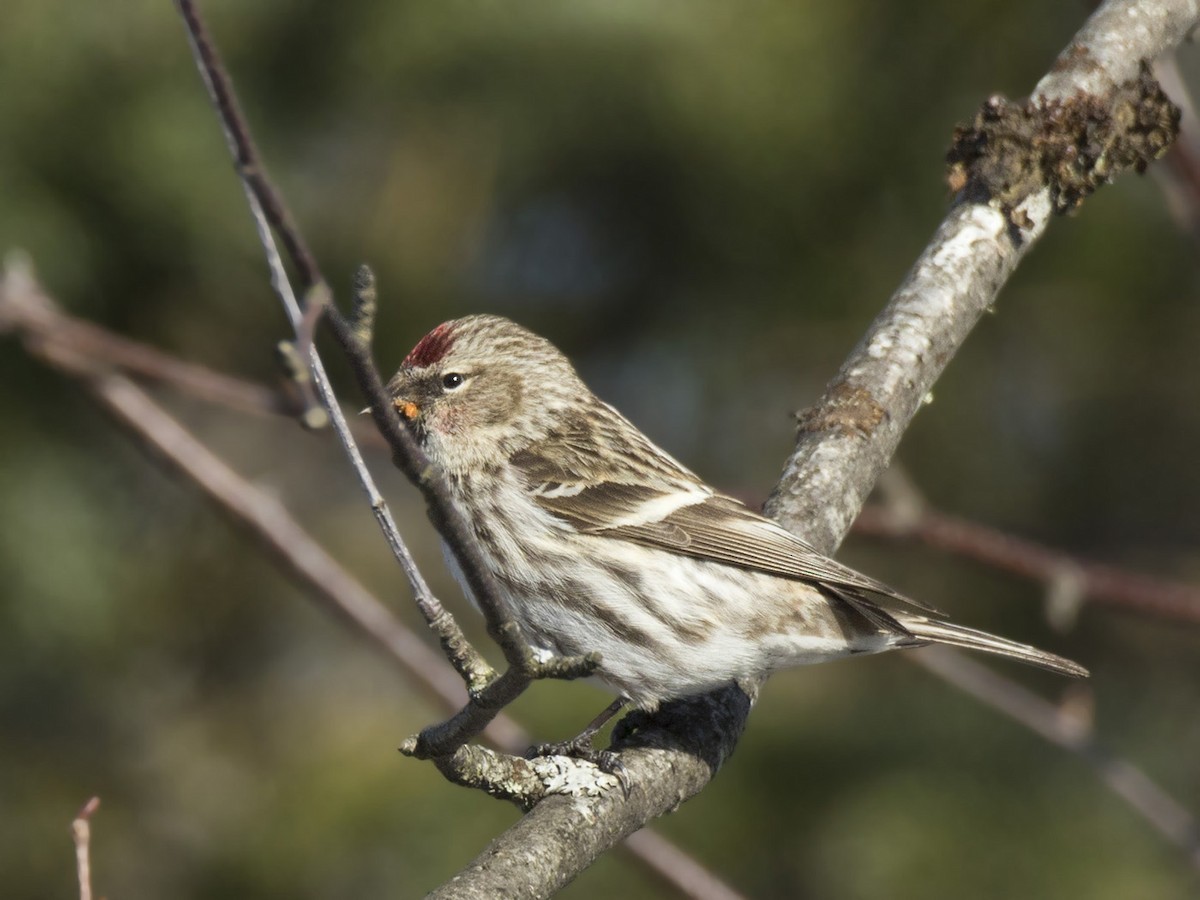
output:
M947 622L704 484L509 319L438 325L388 390L530 647L600 654L595 677L617 702L551 751L587 756L626 702L650 712L780 668L930 643L1087 676Z

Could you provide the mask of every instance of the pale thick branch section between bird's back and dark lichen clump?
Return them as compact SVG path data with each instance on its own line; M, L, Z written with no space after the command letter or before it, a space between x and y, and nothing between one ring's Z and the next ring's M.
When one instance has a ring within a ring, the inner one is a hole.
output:
M871 323L816 407L767 515L832 552L842 540L934 382L1050 214L1046 197L1020 209L1034 224L1015 244L992 206L955 206L904 284Z

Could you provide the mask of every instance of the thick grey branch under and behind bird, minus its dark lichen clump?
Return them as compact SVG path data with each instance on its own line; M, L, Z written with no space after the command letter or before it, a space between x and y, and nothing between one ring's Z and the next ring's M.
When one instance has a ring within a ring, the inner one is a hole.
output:
M1110 0L1063 52L1034 100L1062 102L1080 91L1111 96L1114 85L1139 76L1144 60L1178 44L1198 14L1196 0ZM769 515L818 550L836 548L934 382L1042 235L1050 210L1049 186L1003 202L960 199L821 403L803 418ZM521 896L552 894L648 821L641 816L673 809L700 791L715 773L713 763L736 744L751 703L731 688L673 704L665 712L686 707L683 724L697 743L672 745L670 716L640 731L650 746L623 748L622 755L636 785L631 803L550 798L436 896L494 896L516 884Z

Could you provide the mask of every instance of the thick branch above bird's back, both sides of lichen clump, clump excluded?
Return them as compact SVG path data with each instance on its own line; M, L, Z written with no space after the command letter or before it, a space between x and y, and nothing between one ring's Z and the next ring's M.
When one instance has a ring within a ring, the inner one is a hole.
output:
M1198 16L1196 0L1109 0L1038 83L1031 108L1070 120L1063 109L1100 118L1099 103L1128 104L1120 89L1140 85L1144 60L1176 47ZM821 402L800 416L769 515L822 550L838 546L934 382L1044 233L1052 191L1038 173L1020 196L974 203L965 200L978 193L964 191Z

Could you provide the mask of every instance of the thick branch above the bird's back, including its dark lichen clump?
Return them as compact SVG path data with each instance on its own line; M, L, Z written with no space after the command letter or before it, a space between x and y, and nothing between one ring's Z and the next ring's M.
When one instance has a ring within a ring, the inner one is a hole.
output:
M949 173L961 188L959 202L824 396L802 414L769 515L817 547L841 541L934 383L1042 236L1050 212L1074 208L1085 185L1094 190L1120 170L1092 145L1097 132L1106 136L1104 148L1126 148L1126 168L1162 152L1177 116L1147 84L1145 64L1183 41L1198 17L1200 0L1110 0L1019 113L1001 116L1013 120L1010 127L978 138L970 164L961 145L972 142L960 128ZM980 118L1010 106L989 98ZM1036 145L1026 138L1037 138ZM1070 184L1062 178L1068 158L1079 168Z

